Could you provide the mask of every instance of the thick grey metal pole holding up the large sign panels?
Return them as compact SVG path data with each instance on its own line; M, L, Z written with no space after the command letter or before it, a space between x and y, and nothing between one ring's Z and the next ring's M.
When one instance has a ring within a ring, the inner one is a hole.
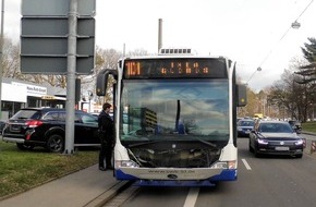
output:
M73 154L74 151L76 35L77 35L77 0L70 0L64 154Z

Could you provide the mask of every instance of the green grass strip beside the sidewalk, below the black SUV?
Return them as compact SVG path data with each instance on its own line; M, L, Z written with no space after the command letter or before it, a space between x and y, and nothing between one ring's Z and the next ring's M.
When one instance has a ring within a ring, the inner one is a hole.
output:
M0 141L0 198L90 167L97 160L96 149L73 155L46 153L41 148L23 151L15 144Z

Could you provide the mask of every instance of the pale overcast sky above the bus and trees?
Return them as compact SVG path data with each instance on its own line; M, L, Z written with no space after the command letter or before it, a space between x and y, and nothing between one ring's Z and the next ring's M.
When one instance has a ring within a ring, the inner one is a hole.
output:
M290 60L302 57L307 38L316 37L316 3L304 12L312 1L96 0L96 45L123 51L125 44L126 51L155 53L162 19L163 47L229 57L244 82L260 66L248 82L258 92L280 80ZM4 2L4 35L17 41L21 0ZM290 28L295 20L299 29Z

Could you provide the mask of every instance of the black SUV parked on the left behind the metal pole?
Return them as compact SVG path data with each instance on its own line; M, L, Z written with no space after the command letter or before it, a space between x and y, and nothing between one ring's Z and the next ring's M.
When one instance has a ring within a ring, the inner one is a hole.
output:
M74 146L99 146L98 118L75 111ZM25 108L8 120L2 139L16 143L20 149L42 146L48 151L62 151L65 139L65 109Z

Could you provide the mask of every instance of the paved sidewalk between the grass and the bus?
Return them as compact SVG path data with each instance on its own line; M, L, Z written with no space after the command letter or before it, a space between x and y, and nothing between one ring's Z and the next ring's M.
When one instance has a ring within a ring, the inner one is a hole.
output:
M114 196L129 182L113 178L112 171L86 168L0 202L0 207L92 207Z

